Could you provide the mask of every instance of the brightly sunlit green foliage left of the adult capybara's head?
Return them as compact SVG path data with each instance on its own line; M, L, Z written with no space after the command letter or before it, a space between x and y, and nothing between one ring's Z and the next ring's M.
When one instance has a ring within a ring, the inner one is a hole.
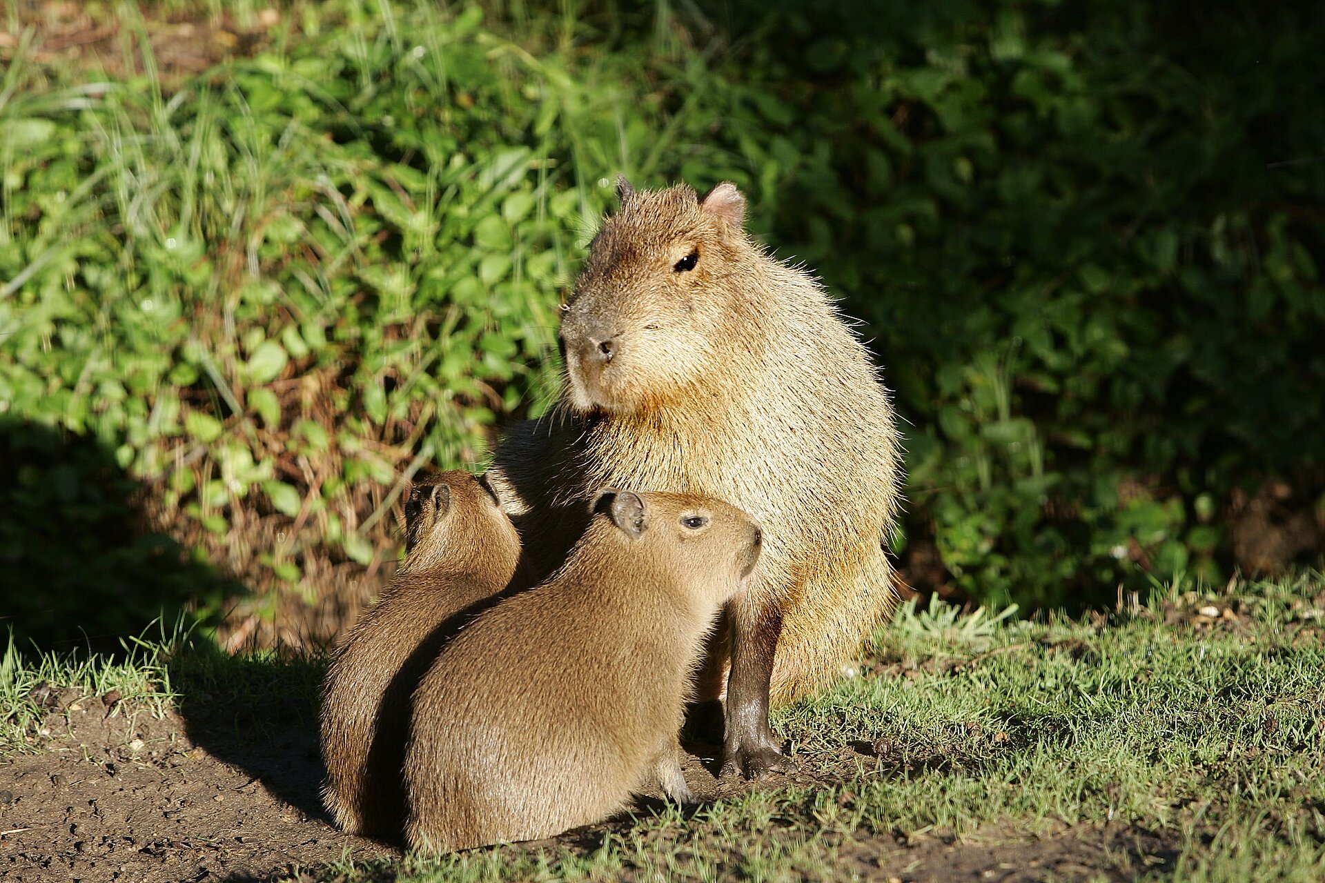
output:
M203 545L306 524L266 563L209 556L258 585L383 555L407 465L473 463L496 414L547 397L567 252L603 208L549 134L594 90L474 12L420 9L417 40L337 23L170 97L16 58L4 410L114 451Z

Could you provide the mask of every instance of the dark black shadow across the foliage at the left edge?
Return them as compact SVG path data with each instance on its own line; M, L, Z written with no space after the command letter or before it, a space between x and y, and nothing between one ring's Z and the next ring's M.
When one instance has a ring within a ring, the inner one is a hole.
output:
M158 617L242 594L152 530L150 492L97 440L0 417L0 627L17 646L115 655Z

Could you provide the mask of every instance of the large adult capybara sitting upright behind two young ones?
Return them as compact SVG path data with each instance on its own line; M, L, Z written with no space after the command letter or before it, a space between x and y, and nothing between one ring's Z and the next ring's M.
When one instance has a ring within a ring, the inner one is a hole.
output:
M733 184L701 199L623 179L619 195L563 306L560 400L507 433L488 475L534 572L560 563L598 487L716 496L759 520L759 569L700 684L725 688L725 769L755 776L784 765L770 692L823 687L896 598L893 408L814 277L745 233Z

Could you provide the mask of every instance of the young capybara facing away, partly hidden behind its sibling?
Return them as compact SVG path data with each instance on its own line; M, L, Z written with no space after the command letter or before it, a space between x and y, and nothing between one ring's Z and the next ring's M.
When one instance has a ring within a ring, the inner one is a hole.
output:
M409 696L448 621L501 592L519 540L488 487L462 471L416 482L405 502L405 561L337 649L322 694L323 798L346 831L399 837Z

